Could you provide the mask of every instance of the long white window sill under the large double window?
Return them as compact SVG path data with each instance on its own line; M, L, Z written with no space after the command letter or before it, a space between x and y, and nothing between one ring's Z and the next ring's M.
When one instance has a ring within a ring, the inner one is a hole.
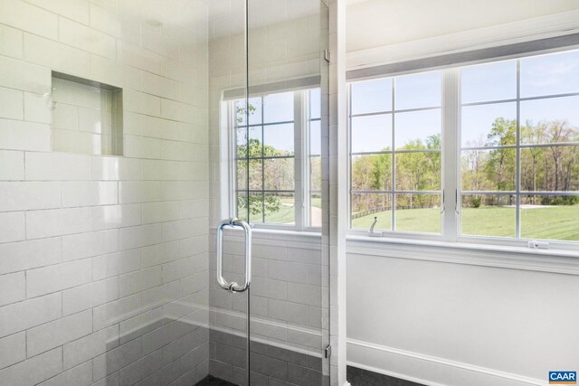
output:
M579 275L579 252L441 240L348 236L348 254Z

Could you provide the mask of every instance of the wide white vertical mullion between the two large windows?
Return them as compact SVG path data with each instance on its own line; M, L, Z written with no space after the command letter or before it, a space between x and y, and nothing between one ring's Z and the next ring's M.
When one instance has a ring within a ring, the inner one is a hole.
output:
M460 230L459 69L442 72L442 239L456 241Z

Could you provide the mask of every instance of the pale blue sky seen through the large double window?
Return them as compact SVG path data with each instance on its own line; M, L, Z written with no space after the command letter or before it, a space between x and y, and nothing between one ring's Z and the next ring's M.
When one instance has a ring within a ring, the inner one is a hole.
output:
M579 92L579 52L541 55L520 61L521 97ZM364 114L392 109L392 79L352 84L352 113ZM395 80L396 109L428 108L441 105L441 72L406 75ZM517 61L499 61L464 67L460 71L462 103L476 103L517 97ZM495 118L517 118L514 102L493 103L461 109L462 146L486 141ZM566 119L579 127L579 97L527 100L521 102L521 122ZM353 118L352 151L379 151L392 146L392 116ZM440 133L440 110L396 113L395 146L409 140Z

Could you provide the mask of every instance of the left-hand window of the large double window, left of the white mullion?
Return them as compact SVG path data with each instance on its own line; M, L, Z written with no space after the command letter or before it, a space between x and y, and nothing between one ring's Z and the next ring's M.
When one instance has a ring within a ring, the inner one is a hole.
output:
M441 72L353 83L352 228L441 233Z

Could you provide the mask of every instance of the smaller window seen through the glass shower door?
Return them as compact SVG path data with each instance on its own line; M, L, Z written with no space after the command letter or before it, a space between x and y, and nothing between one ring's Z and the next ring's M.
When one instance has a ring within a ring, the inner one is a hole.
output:
M229 106L236 216L298 230L321 226L320 90L264 94L247 107L244 99Z

